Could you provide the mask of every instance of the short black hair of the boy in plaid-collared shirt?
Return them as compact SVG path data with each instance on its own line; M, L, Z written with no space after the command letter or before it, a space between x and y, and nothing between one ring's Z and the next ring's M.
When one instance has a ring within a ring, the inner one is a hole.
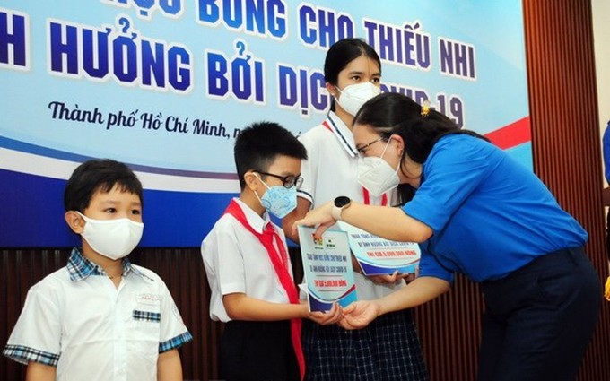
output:
M65 186L65 211L83 212L96 192L108 193L117 184L121 191L137 195L144 204L142 183L125 164L110 159L83 162L74 169Z

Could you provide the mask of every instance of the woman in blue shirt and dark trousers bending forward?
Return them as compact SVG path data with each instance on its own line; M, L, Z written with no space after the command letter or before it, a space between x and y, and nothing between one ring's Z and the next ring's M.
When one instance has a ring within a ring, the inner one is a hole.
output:
M341 219L420 242L422 258L403 290L345 308L344 328L434 299L464 273L484 292L480 381L573 380L601 301L587 232L531 171L404 95L368 101L353 125L359 181L372 194L399 186L402 210L338 197L296 224L321 234Z

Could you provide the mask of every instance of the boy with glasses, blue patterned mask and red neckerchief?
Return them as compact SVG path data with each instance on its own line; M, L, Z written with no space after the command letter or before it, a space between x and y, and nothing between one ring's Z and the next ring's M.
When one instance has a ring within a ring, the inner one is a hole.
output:
M240 197L216 222L201 245L212 290L210 317L227 323L221 338L220 370L226 381L301 380L301 318L334 324L335 306L310 313L301 303L283 230L269 218L296 207L305 147L275 123L244 128L235 141Z

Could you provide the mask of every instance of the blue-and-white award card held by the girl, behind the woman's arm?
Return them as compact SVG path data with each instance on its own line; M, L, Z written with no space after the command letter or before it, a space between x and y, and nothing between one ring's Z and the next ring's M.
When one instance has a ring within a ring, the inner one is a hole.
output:
M339 229L349 236L353 256L364 275L415 273L419 265L420 248L414 242L397 242L380 238L344 221L337 221Z

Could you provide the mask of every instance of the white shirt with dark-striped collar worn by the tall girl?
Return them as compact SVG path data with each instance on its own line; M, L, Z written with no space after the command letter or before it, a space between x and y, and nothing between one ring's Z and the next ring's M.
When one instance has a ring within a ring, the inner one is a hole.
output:
M309 200L312 208L335 200L339 195L364 202L364 190L358 184L358 151L352 131L341 118L329 111L321 125L301 134L299 140L307 149L307 160L301 160L303 184L297 190L297 196ZM388 198L392 203L396 195ZM380 205L381 197L370 196L370 204ZM354 272L353 276L361 300L384 297L405 285L404 281L396 285L378 285L360 273Z

